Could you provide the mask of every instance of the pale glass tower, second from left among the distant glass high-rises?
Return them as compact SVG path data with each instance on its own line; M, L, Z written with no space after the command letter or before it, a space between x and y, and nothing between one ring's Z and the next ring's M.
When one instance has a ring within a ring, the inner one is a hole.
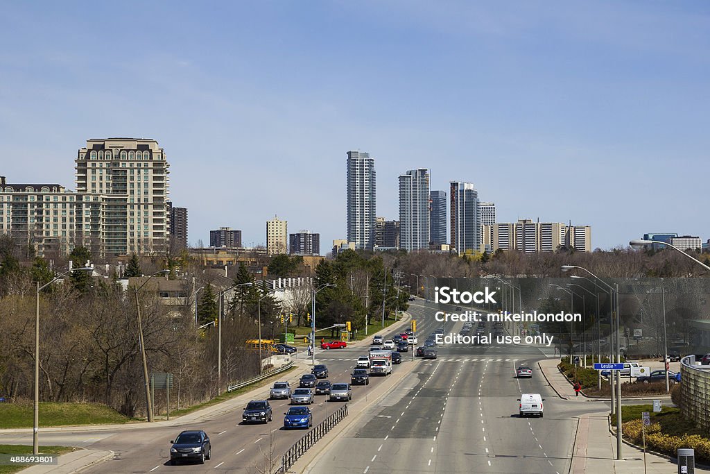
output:
M408 252L429 249L429 186L426 168L399 177L400 247Z

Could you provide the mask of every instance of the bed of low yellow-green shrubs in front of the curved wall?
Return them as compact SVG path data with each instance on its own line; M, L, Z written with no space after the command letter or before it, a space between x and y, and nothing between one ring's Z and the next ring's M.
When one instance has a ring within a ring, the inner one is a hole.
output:
M645 429L646 448L666 456L676 456L678 448L692 448L696 462L710 463L710 438L692 421L684 419L678 408L664 406L660 413L654 413L652 405L622 406L624 438L643 446L643 411L648 411L651 419Z

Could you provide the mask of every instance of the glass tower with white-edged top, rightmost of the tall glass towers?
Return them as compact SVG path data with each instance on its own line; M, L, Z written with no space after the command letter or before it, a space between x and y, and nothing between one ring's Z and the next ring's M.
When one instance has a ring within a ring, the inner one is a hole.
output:
M479 217L479 192L472 183L451 182L451 247L459 255L479 252L481 247L481 220Z

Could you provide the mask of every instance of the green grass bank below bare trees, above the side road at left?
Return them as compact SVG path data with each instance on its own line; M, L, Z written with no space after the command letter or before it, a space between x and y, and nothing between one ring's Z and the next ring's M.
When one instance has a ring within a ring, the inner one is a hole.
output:
M40 427L89 424L123 424L138 421L102 404L41 402ZM34 409L31 403L0 404L0 429L31 428Z

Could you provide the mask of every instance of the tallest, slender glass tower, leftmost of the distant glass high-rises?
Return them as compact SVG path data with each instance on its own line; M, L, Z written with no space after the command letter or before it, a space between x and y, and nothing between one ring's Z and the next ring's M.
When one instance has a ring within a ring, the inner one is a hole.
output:
M348 151L346 162L346 233L357 249L375 245L375 159L370 153Z

